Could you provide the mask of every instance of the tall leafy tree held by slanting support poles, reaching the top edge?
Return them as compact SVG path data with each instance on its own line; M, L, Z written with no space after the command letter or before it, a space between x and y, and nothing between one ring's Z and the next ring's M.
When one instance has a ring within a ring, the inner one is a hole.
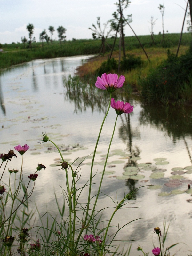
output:
M131 2L129 0L119 0L118 2L116 2L115 4L117 6L117 12L114 12L112 14L113 19L110 20L113 30L120 33L124 57L126 56L124 44L124 26L126 25L126 23L132 22L132 14L127 15L127 18L125 18L123 15L123 11L129 6L130 3Z

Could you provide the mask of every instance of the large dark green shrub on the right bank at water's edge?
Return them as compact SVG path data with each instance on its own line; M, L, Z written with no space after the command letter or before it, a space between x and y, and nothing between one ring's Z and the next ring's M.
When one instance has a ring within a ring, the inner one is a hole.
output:
M168 51L167 60L139 80L141 95L146 102L175 102L182 98L184 83L192 71L192 52L176 57Z

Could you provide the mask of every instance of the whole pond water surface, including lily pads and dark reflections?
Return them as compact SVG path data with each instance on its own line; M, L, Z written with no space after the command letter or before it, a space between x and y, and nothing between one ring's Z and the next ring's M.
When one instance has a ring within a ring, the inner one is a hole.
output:
M0 73L0 153L18 144L30 146L24 155L24 181L35 172L38 163L46 166L38 173L30 203L32 207L37 205L41 215L46 211L52 215L57 213L53 206L54 191L61 200L60 186L64 186L65 175L55 166L60 162L59 154L50 143L38 144L37 140L46 132L63 149L66 161L73 162L79 157L77 162L80 162L94 151L108 107L108 95L95 90L94 84L91 90L64 86L64 77L73 77L76 67L88 57L34 60ZM120 92L116 99L127 101ZM130 205L139 208L121 209L116 213L114 225L120 222L122 226L142 218L127 225L117 238L136 240L132 242L130 255L141 254L136 250L138 245L152 255L153 244L159 246L153 230L158 226L163 232L165 219L167 225L170 224L165 247L179 242L170 253L190 254L192 190L188 189L188 184L192 186L192 109L145 106L134 97L129 98L129 102L134 111L129 116L118 117L106 168L108 174L97 207L112 205L111 199L104 194L116 200L117 192L120 201L125 190L155 185L139 189L137 201L134 201L138 205ZM114 109L110 109L95 158L96 177L100 177L103 168L115 118ZM20 161L19 155L8 167L20 168ZM90 162L87 157L82 164L81 184L89 178ZM82 193L82 198L86 198L86 193ZM108 217L109 212L111 210L105 211L104 217ZM114 231L112 228L111 232Z

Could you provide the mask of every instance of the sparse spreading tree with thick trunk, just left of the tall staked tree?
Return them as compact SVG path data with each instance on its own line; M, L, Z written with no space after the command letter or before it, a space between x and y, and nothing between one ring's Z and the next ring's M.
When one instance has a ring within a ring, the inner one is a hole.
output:
M101 39L101 49L100 53L102 52L105 54L105 40L110 36L110 33L112 31L112 28L108 30L108 32L105 33L105 30L109 24L110 20L107 21L107 23L104 23L104 28L101 28L101 23L100 23L100 17L97 17L97 25L92 24L93 28L89 28L93 31L92 36L93 39Z

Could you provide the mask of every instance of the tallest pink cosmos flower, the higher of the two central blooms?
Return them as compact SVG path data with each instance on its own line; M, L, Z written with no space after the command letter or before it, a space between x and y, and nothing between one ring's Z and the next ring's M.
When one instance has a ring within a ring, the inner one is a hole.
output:
M95 83L95 86L101 90L107 90L108 92L112 93L117 88L120 88L123 86L123 83L125 81L125 77L121 75L118 79L118 75L116 74L106 74L104 73L101 75L101 78L97 77L97 82Z

